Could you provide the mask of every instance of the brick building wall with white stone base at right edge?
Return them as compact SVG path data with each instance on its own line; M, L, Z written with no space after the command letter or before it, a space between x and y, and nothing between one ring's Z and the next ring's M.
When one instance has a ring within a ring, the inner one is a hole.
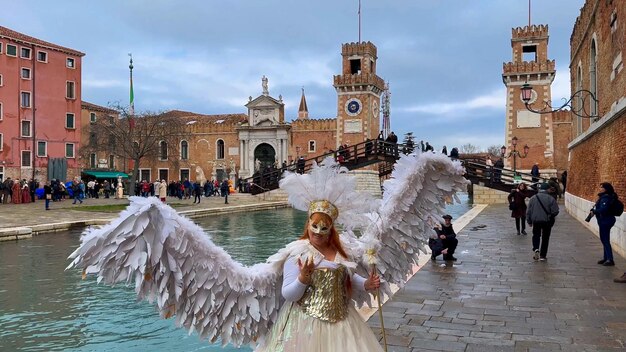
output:
M568 145L569 172L566 207L584 219L593 206L601 182L610 182L626 198L626 162L621 152L626 140L626 2L587 0L570 39L572 95L584 89L597 101L577 95L573 110L590 118L574 117ZM583 222L597 232L595 220ZM611 231L613 249L626 256L626 215Z

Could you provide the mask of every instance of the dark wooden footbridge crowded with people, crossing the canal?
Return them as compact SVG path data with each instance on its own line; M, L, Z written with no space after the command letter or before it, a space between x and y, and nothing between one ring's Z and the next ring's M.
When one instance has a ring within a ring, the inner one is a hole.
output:
M285 171L307 173L313 167L313 162L320 163L327 157L333 157L348 170L362 169L370 165L378 166L378 176L388 178L393 171L393 165L403 153L409 153L413 147L388 143L380 140L370 140L354 144L347 148L339 148L313 158L296 160L293 164L282 168L268 168L258 170L252 177L244 179L250 183L250 193L260 194L278 188L280 178ZM475 155L461 155L458 159L465 167L465 177L473 184L510 192L519 182L528 185L545 182L544 178L535 178L528 173L522 173L507 168L495 168L486 164L486 159Z

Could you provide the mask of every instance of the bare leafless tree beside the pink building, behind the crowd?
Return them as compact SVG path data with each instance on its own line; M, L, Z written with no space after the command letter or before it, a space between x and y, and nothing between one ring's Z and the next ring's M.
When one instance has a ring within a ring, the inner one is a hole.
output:
M106 151L111 155L133 161L128 194L135 192L135 183L139 177L139 165L142 161L167 160L178 155L177 148L186 124L183 119L167 113L149 113L129 115L127 109L115 106L119 117L109 116L98 119L90 125L87 145L81 153ZM178 161L178 158L173 160Z

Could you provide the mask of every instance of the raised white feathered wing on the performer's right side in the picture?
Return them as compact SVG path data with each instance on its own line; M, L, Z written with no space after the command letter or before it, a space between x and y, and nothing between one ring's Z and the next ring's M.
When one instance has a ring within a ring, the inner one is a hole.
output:
M404 286L413 264L418 263L419 252L426 252L446 203L458 201L456 193L466 191L464 174L460 162L443 154L402 156L383 184L383 200L372 215L373 224L360 237L350 232L342 236L343 243L363 258L361 273L370 261L376 263L384 279L384 293L390 294L387 283ZM355 300L361 304L367 297Z

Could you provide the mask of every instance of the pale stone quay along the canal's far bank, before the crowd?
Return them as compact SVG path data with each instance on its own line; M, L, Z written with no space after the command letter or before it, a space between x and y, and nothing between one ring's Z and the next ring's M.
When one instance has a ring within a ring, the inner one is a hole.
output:
M65 199L61 202L50 202L50 210L46 211L45 201L37 200L27 204L0 204L0 236L1 232L10 231L12 228L32 228L37 232L38 228L51 224L62 225L57 230L64 230L68 223L73 222L76 226L85 226L85 222L95 221L104 223L116 217L117 213L95 212L78 210L85 206L128 204L128 199L114 199L103 197L98 199L84 199L83 204L72 204L72 199ZM271 209L286 207L286 202L273 202L259 200L249 194L232 194L228 196L228 203L224 204L222 197L203 197L200 204L193 204L192 199L179 200L175 197L168 197L167 202L174 205L180 213L194 217L216 214L219 212L252 211L260 209ZM87 224L88 225L88 224ZM41 232L46 232L45 230Z

